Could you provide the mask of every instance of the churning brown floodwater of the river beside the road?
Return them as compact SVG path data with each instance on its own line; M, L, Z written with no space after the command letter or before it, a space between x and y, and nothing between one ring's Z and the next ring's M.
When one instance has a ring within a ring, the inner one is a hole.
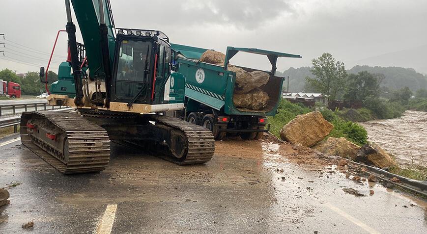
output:
M427 166L427 112L407 110L400 118L361 123L368 140L396 156L400 165Z

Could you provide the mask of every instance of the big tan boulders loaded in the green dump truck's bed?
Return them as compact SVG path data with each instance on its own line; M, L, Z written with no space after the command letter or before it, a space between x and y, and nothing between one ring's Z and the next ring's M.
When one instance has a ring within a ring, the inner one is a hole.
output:
M226 55L222 52L206 51L201 57L201 62L224 65ZM236 82L234 87L233 103L236 107L242 107L252 110L260 110L267 106L270 97L261 89L270 76L262 71L247 72L242 68L228 65L228 71L236 73Z

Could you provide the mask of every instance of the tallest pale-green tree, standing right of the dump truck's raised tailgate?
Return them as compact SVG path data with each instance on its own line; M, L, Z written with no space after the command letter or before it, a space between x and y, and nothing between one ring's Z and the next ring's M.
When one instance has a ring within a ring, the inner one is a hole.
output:
M326 95L328 102L335 100L343 90L347 77L344 63L335 60L330 53L323 53L322 56L313 58L312 63L313 68L310 71L314 78L307 77L307 82Z

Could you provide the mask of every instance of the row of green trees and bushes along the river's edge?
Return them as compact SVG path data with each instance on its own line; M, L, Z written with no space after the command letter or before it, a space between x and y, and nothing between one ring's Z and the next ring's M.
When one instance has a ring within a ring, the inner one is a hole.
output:
M344 63L330 53L323 53L312 63L310 71L313 77L306 77L306 89L324 94L328 103L334 100L359 101L378 118L395 118L404 109L426 110L425 107L415 108L427 104L427 90L424 88L415 93L407 86L390 90L382 86L384 74L359 71L348 75Z

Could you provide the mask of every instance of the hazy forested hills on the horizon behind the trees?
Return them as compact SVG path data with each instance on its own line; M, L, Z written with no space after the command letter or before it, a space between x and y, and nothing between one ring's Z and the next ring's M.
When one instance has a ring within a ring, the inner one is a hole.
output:
M288 77L289 76L289 92L296 93L304 91L306 77L313 77L310 72L310 67L289 68L284 72L277 72L276 76ZM383 74L385 79L381 86L388 87L392 90L400 89L407 86L412 92L420 88L427 89L427 76L416 72L412 68L402 67L370 67L370 66L354 66L347 70L348 74L356 74L361 71L368 71L374 74ZM287 81L284 82L283 90L287 87Z

